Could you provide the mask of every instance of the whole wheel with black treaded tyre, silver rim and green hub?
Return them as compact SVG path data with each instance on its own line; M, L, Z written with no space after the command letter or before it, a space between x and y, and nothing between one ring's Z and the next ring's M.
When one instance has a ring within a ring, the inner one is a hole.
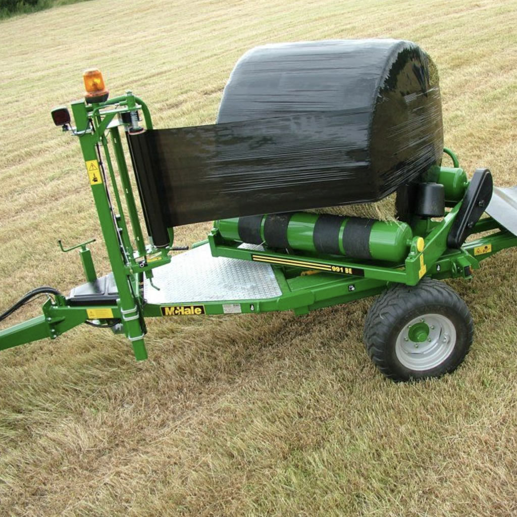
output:
M379 296L364 321L363 338L386 377L409 381L454 371L473 334L472 316L460 296L443 282L423 278L413 287L393 285Z

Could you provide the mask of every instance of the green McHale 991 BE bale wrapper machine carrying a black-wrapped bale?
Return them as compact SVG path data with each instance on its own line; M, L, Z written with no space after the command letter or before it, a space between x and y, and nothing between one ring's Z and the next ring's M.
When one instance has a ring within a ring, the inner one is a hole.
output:
M318 59L323 48L332 65L329 74L339 68L333 66L338 58L355 60L352 65L360 59L370 71L369 82L358 82L367 73L355 65L343 66L346 78L335 83L355 81L354 91L367 96L357 101L360 109L351 104L352 95L345 109L324 112L311 97L316 104L308 107L305 102L298 111L286 111L284 97L280 111L265 113L272 103L257 104L254 88L263 93L283 87L291 97L314 94L310 81L296 91L285 85L289 77L296 84L300 80L299 68L290 76L286 64L296 68L295 57L302 55L307 72L306 57L315 43L266 45L246 54L232 72L218 124L197 128L155 130L142 99L130 91L109 99L100 72L86 71L86 97L71 104L73 123L65 107L53 110L52 116L56 126L79 139L84 178L112 270L97 276L87 248L90 241L74 247L80 249L86 282L68 296L49 287L27 293L1 318L46 293L43 314L0 331L0 349L56 339L89 323L125 334L136 359L142 360L147 358L148 317L286 310L303 315L381 295L364 330L367 351L379 370L407 380L457 368L472 343L473 322L463 300L440 280L472 278L485 258L517 245L517 192L493 188L488 169L478 169L467 179L457 157L440 140L434 65L414 44L380 41L319 42ZM271 52L280 55L281 71L269 69L269 82L246 82L247 67L263 70L256 65L265 62L264 56L271 63ZM322 70L318 61L306 78L322 81ZM279 73L281 82L270 80ZM325 77L328 94L334 82ZM351 84L345 85L348 90ZM336 91L326 96L326 106ZM301 105L299 99L295 104ZM368 117L362 119L364 112ZM404 126L401 120L408 119ZM345 135L344 144L334 145L343 139L343 127L356 130ZM394 149L401 127L405 144ZM413 138L420 130L416 127L423 132ZM433 140L422 146L431 133ZM401 149L410 147L408 138L418 149L401 157ZM347 147L349 141L355 144ZM442 166L443 150L452 166ZM339 160L339 167L334 166ZM278 162L281 169L270 174L280 167ZM386 180L382 186L379 178ZM397 220L306 211L331 203L353 208L393 192ZM216 219L208 238L172 254L177 250L173 226L205 221L208 215ZM467 242L473 234L480 235Z

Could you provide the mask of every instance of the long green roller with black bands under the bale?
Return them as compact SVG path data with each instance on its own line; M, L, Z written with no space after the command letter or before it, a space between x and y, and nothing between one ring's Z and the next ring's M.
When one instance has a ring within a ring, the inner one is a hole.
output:
M227 241L388 262L403 261L413 238L403 222L308 212L221 219L216 227Z

